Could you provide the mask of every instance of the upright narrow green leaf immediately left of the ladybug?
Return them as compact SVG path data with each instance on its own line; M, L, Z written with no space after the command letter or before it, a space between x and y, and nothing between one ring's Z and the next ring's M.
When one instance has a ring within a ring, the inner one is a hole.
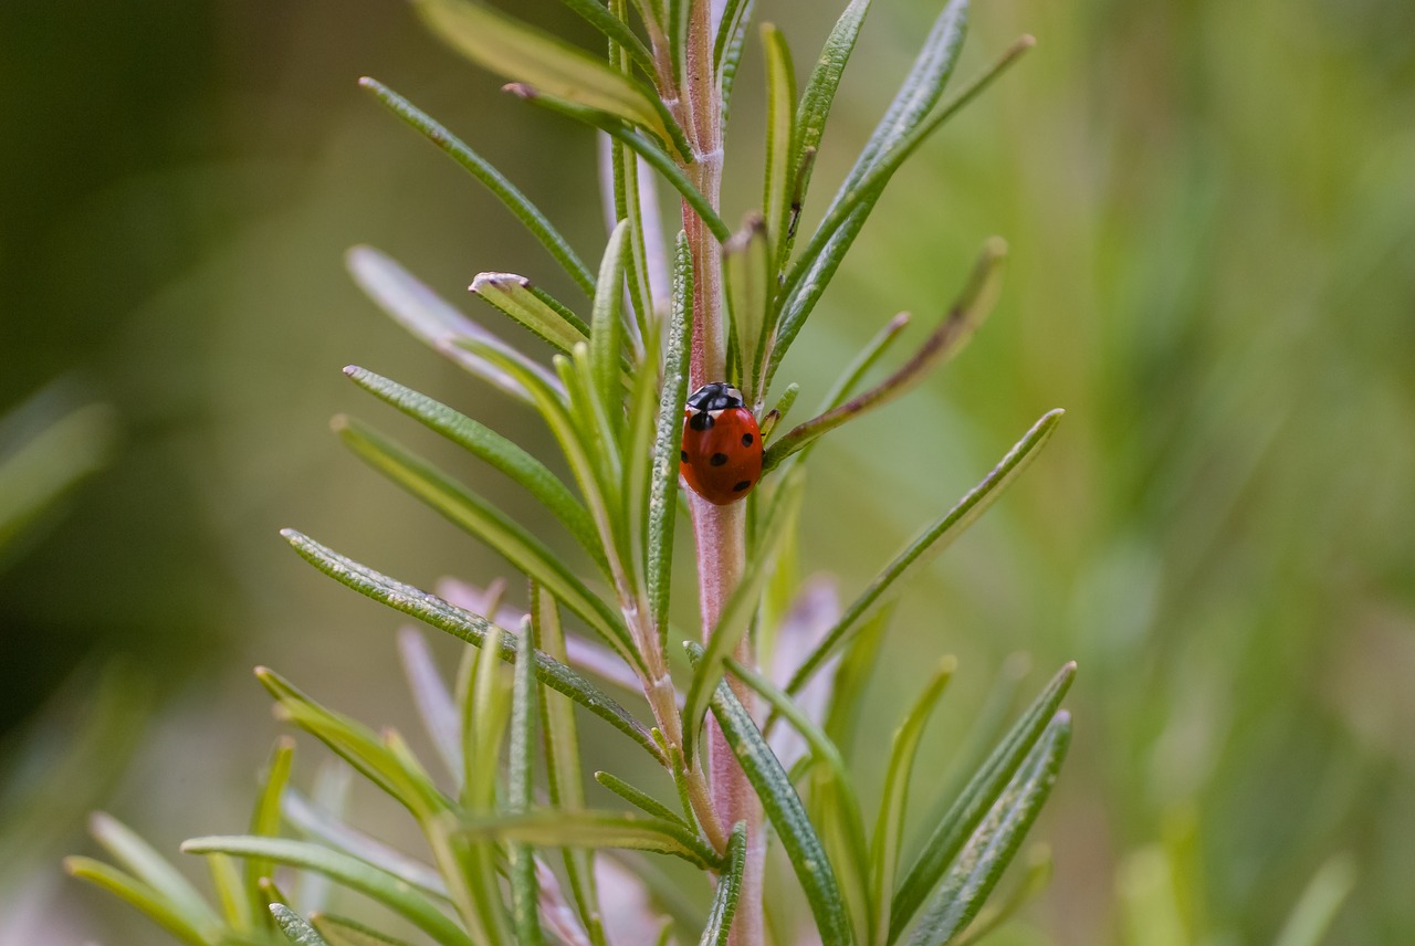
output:
M648 491L648 602L658 649L668 646L668 601L674 568L674 525L678 518L678 455L683 441L688 399L688 346L692 342L693 262L688 236L679 230L674 253L674 311L664 348L664 386L654 436L654 475Z

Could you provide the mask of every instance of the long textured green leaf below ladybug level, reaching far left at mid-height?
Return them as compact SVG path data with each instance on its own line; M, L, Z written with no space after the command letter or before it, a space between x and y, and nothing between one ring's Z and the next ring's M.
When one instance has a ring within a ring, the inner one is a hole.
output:
M284 529L280 535L284 536L301 559L340 584L368 598L381 601L395 611L446 631L454 638L460 638L474 646L480 648L483 641L485 641L487 631L491 626L491 622L485 618L447 604L441 598L413 585L389 578L352 559L341 556L294 529ZM501 659L515 659L515 635L504 636ZM664 751L654 742L644 724L574 669L536 652L536 679L552 690L570 697L620 732L628 735L658 759L659 764L666 764Z

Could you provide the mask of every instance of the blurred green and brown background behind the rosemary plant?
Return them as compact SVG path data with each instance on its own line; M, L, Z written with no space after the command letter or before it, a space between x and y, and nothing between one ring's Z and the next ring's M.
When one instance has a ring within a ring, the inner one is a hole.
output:
M802 74L832 7L763 0ZM550 0L519 8L563 21ZM807 226L935 13L876 3ZM932 655L959 655L924 812L1006 655L1032 655L1029 690L1080 660L1077 744L1036 833L1056 877L999 942L1271 943L1323 865L1319 888L1356 877L1324 942L1415 942L1415 6L999 0L975 11L961 71L1023 31L1037 49L896 178L781 375L812 403L894 311L930 322L982 239L1009 239L1002 304L966 354L816 454L805 566L845 595L1032 420L1070 410L908 595L863 731L893 727ZM52 411L109 404L116 437L0 549L0 819L37 792L74 802L17 848L23 870L8 858L6 946L154 942L57 857L82 846L88 805L168 850L238 830L279 731L256 662L365 721L412 718L396 621L303 566L279 527L423 585L499 574L327 436L354 410L432 444L344 363L550 454L529 414L342 271L366 242L457 301L480 270L573 296L492 198L357 89L365 74L597 256L593 137L499 95L403 4L0 4L0 413L61 379ZM758 89L753 45L727 219L760 187ZM125 710L139 748L112 790L117 749L57 783L83 707L109 706L93 693L116 655L158 710ZM860 752L857 771L883 769L883 740Z

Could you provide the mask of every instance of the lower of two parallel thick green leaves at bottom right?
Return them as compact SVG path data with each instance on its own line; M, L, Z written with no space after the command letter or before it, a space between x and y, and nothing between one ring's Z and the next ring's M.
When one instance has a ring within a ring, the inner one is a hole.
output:
M918 921L911 946L944 946L968 928L1046 805L1070 744L1071 718L1063 711L1047 725L1036 748L959 851Z

